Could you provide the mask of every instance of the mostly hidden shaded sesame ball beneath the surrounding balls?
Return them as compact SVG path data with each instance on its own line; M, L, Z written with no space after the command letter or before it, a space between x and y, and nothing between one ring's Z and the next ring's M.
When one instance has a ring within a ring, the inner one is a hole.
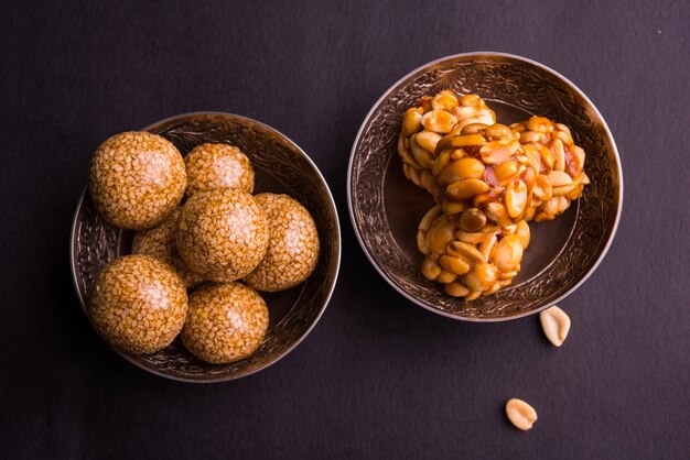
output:
M182 280L187 289L201 284L204 278L192 272L177 252L175 232L180 208L175 208L158 227L139 230L132 241L132 254L151 255L170 265Z

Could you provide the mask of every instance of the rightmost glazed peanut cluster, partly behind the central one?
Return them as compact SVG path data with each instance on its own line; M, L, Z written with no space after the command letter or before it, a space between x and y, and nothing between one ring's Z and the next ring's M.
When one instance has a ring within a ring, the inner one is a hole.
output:
M531 117L510 129L530 154L539 160L540 176L532 187L533 219L551 220L563 213L572 200L580 198L590 178L584 173L584 150L572 139L570 129L548 118Z

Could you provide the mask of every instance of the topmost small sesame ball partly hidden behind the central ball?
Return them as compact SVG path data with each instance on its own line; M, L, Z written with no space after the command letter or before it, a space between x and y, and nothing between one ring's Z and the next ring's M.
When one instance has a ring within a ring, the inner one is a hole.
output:
M254 191L254 168L244 152L227 144L201 144L184 157L187 196L212 188Z

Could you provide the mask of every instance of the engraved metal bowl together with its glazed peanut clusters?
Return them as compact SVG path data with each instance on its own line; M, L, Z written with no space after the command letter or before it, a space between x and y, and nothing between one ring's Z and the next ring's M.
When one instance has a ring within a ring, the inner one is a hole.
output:
M623 196L594 105L548 67L498 53L449 56L396 83L359 130L347 186L382 277L473 321L572 293L604 258Z

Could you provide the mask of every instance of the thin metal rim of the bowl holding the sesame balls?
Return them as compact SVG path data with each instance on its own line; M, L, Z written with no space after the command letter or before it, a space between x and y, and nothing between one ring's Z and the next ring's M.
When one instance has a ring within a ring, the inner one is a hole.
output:
M229 117L231 119L235 120L239 120L240 122L244 123L248 123L248 124L255 124L259 128L262 128L269 132L271 132L272 134L274 134L278 139L281 140L281 142L284 142L287 145L289 145L291 149L293 149L295 152L298 152L300 155L302 155L302 157L304 160L306 160L306 162L309 163L309 165L313 168L313 171L316 173L316 177L322 182L325 190L326 190L326 201L327 204L331 206L332 210L333 210L333 217L335 219L335 221L333 222L333 228L335 230L336 233L336 241L334 241L334 249L335 249L335 272L333 273L333 281L331 282L331 286L326 293L326 296L324 298L323 305L321 306L319 313L316 314L316 316L314 317L313 321L311 322L311 325L309 325L309 327L304 330L304 332L297 339L294 340L294 342L292 342L289 347L287 347L281 353L278 353L277 355L272 357L270 360L268 360L266 363L263 363L262 365L256 368L256 369L251 369L247 372L244 372L241 374L237 374L237 375L226 375L226 376L222 376L222 377L212 377L208 380L193 380L193 379L186 379L183 376L177 376L177 375L170 375L170 374L165 374L162 372L159 372L157 369L154 368L150 368L147 366L140 362L138 362L137 360L134 360L131 355L129 355L128 353L121 352L120 350L110 347L116 353L118 353L120 357L122 357L125 360L127 360L129 363L136 365L137 368L140 368L147 372L150 372L154 375L168 379L168 380L173 380L173 381L177 381L177 382L185 382L185 383L220 383L220 382L229 382L233 380L237 380L237 379L241 379L241 377L246 377L248 375L255 374L259 371L262 371L273 364L276 364L278 361L282 360L284 357L287 357L288 354L290 354L290 352L292 352L300 343L302 343L302 341L306 338L306 336L310 335L310 332L312 331L312 329L314 329L314 327L316 326L316 324L319 322L319 320L321 319L321 317L323 316L323 313L325 311L326 307L328 306L328 304L331 303L331 298L333 297L333 292L335 291L335 286L337 284L337 278L338 278L338 274L339 274L339 270L341 270L341 259L342 259L342 231L341 231L341 224L339 224L339 217L337 213L337 206L335 205L335 200L333 198L333 193L331 191L331 188L328 187L328 183L326 182L326 179L323 177L323 174L321 173L321 171L319 169L319 167L316 166L316 164L313 162L313 160L306 154L306 152L304 152L302 150L302 147L300 147L294 141L292 141L290 138L288 138L285 134L283 134L282 132L280 132L279 130L277 130L276 128L269 127L266 123L262 123L260 121L254 120L251 118L248 117L244 117L244 116L239 116L239 114L235 114L235 113L228 113L228 112L220 112L220 111L196 111L196 112L186 112L186 113L180 113L176 116L172 116L172 117L168 117L164 119L161 119L159 121L155 121L149 125L147 125L145 128L142 128L141 131L149 131L150 129L160 125L160 124L164 124L168 123L170 121L174 121L177 119L182 119L182 118L186 118L186 117L198 117L198 116L223 116L223 117ZM82 310L84 311L84 314L86 314L86 300L84 299L84 296L82 295L82 292L79 291L79 285L78 285L78 280L77 280L77 266L76 266L76 260L75 260L75 232L77 229L77 217L79 215L79 209L83 206L84 202L84 198L86 196L86 193L88 190L88 187L84 187L84 190L82 191L82 195L79 196L79 199L77 201L75 211L74 211L74 217L72 218L72 229L69 232L69 265L71 265L71 271L72 271L72 282L74 284L74 289L77 294L77 298L79 299L79 304L82 305ZM118 239L121 238L122 234L122 229L118 229Z

